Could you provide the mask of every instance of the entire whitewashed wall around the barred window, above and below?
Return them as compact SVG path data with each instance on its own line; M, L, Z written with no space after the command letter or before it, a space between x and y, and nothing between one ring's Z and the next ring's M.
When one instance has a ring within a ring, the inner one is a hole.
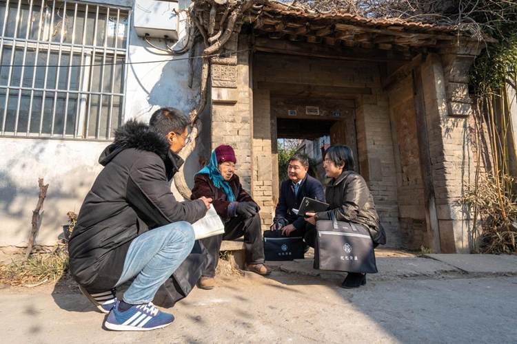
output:
M134 1L91 1L133 6ZM180 8L190 4L180 0ZM180 42L185 39L185 14L181 15ZM161 46L163 42L153 41ZM156 50L136 36L130 26L130 47L127 61L124 120L138 118L148 122L159 107L176 107L188 113L199 100L199 80L187 87L188 63L183 56L170 56ZM141 63L163 61L160 63ZM193 175L199 171L199 154L210 155L209 111L202 114L203 138L185 164L187 184L193 186ZM0 247L26 246L31 229L32 211L38 202L38 178L49 184L41 212L37 244L56 244L68 211L79 212L83 199L102 166L99 155L110 142L81 140L42 140L0 138ZM205 147L207 147L205 149ZM173 186L174 189L174 186ZM173 190L176 196L178 193Z

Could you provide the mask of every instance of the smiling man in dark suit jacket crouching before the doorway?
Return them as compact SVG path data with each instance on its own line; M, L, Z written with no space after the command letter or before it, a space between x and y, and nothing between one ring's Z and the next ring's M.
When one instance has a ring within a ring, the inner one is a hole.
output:
M289 165L287 166L289 180L283 181L280 186L280 197L278 198L278 204L276 204L272 226L273 230L281 229L282 235L286 237L305 237L305 233L313 227L303 217L292 211L300 208L303 197L325 202L323 185L319 180L312 178L307 173L308 170L309 161L306 155L294 154L289 159ZM310 233L314 234L312 231ZM307 237L305 242L312 243L314 238Z

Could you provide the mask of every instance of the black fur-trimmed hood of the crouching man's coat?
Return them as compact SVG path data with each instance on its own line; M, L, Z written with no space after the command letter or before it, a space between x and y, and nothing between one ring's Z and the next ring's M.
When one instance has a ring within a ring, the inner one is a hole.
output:
M172 172L171 170L178 171L183 164L183 159L170 150L170 144L165 136L137 120L128 120L115 130L115 139L101 153L99 164L106 166L121 151L130 148L150 151L158 155L165 162L168 174Z

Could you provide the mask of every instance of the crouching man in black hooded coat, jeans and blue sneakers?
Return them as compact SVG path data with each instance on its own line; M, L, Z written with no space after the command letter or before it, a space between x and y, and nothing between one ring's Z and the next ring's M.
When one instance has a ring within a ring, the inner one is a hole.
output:
M183 164L187 117L154 112L150 125L130 120L116 129L99 158L104 169L86 195L68 250L70 272L110 330L153 330L174 321L152 304L158 288L194 246L192 223L211 200L178 202L169 181ZM115 287L134 277L117 301Z

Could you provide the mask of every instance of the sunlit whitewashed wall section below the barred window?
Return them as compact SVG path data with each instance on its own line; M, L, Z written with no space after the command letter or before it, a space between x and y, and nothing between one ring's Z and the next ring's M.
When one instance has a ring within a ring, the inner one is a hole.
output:
M38 178L49 184L40 212L37 243L53 245L67 224L68 211L79 212L105 142L0 138L0 246L26 246L32 211L38 202Z

